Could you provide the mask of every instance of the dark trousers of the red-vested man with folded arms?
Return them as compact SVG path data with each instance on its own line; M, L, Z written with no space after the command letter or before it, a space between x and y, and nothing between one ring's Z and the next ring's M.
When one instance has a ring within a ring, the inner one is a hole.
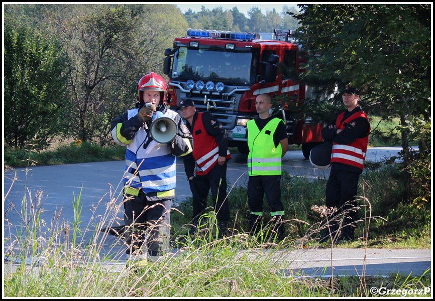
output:
M331 231L333 232L338 229L340 220L336 218L342 212L345 212L341 232L342 235L349 236L350 238L353 238L355 227L345 226L357 220L358 211L355 207L357 206L356 195L358 192L359 176L359 173L337 169L333 164L325 193L326 206L338 209L335 214L329 217L330 220L333 220L330 223Z

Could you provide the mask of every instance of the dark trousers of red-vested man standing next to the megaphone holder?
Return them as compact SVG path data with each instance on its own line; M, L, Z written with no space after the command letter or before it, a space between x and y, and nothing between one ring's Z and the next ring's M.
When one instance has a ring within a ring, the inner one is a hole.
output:
M216 164L206 175L197 175L189 181L193 197L193 219L207 208L208 192L211 190L214 211L219 221L230 219L230 206L227 198L227 164Z

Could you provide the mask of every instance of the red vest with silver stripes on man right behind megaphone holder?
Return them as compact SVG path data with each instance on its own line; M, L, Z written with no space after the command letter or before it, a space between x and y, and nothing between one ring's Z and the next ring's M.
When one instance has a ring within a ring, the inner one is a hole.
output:
M218 164L219 145L213 136L210 136L202 123L202 113L198 113L192 130L193 158L196 161L195 175L207 174ZM231 159L230 150L227 149L227 159Z

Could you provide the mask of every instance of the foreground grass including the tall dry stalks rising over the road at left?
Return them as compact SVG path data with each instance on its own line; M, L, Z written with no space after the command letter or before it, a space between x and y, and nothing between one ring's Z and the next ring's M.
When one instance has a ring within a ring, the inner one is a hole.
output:
M79 199L74 208L79 208ZM115 204L109 207L116 212L119 207ZM107 217L112 213L108 210L99 225L110 220ZM176 254L166 254L158 262L111 269L100 264L110 258L98 255L98 241L105 239L107 232L94 231L90 244L69 240L65 239L65 224L54 222L48 230L38 220L38 210L31 215L33 222L16 242L20 251L14 259L21 262L4 277L7 297L361 297L402 296L403 291L406 296L427 296L431 287L428 274L333 278L294 274L288 267L298 258L285 257L280 251L295 248L294 240L274 243L245 233L213 240L212 215L205 218L200 235L177 237ZM75 215L71 235L79 236L83 234L77 224L80 210ZM25 259L29 259L27 263ZM5 265L6 271L12 268L13 264ZM388 294L379 290L382 287Z

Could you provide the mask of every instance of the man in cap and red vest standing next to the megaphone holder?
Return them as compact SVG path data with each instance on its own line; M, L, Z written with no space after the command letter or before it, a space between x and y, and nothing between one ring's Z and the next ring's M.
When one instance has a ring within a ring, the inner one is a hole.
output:
M189 234L196 231L198 219L207 207L208 192L211 189L218 219L218 238L222 238L227 232L227 222L230 219L227 199L227 162L231 159L228 133L212 114L196 112L191 99L181 100L178 109L186 119L193 138L193 152L184 158L184 170L193 197L194 227Z

